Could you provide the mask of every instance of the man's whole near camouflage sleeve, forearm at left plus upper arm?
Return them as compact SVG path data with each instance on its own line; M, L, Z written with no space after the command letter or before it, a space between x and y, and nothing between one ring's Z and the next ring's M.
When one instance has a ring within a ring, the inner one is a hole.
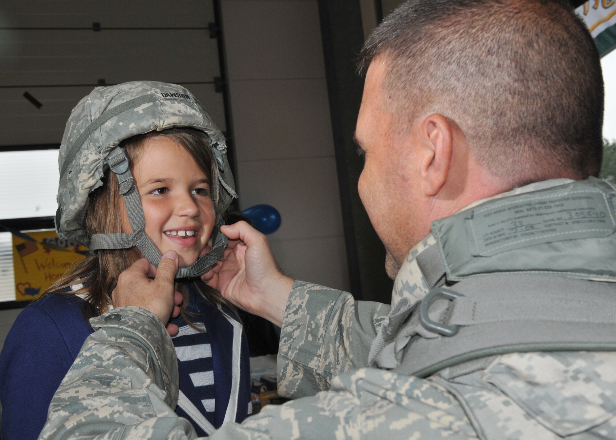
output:
M55 393L41 439L194 439L188 420L171 409L177 364L160 320L122 307L91 324L99 329ZM331 388L225 423L209 439L476 438L455 397L433 381L360 369Z

